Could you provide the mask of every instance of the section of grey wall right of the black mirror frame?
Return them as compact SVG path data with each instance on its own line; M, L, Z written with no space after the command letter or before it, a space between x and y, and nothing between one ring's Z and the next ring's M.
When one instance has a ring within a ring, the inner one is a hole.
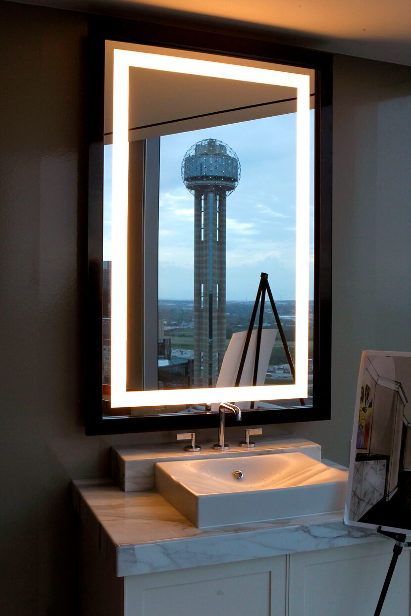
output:
M336 56L332 419L290 426L348 463L361 351L411 351L411 68Z

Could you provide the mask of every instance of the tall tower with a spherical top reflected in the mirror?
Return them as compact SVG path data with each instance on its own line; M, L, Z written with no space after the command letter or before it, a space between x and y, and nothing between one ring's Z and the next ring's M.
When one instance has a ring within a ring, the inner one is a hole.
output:
M226 200L240 180L234 150L216 139L192 145L181 176L194 195L194 386L215 386L226 351Z

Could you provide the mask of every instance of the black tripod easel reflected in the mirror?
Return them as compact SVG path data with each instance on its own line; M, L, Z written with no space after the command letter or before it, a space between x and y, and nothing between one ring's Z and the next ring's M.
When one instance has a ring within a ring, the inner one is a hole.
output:
M250 319L250 325L248 326L248 331L247 331L247 335L246 335L245 342L244 342L243 354L240 360L240 365L238 366L237 378L235 379L235 385L234 385L235 387L238 387L240 385L240 379L243 373L245 358L247 355L248 347L250 346L251 333L253 331L254 323L256 320L258 304L260 304L259 317L258 317L257 342L256 342L256 356L254 359L253 386L257 384L258 360L259 360L259 352L260 352L260 346L261 346L261 331L262 331L262 322L263 322L263 317L264 317L264 304L266 302L266 293L271 303L271 308L274 314L275 323L277 323L277 328L279 330L281 341L283 343L285 355L287 356L287 362L288 362L288 365L290 366L291 375L293 375L293 379L295 381L294 363L293 363L293 360L291 359L290 349L288 349L288 344L287 344L287 340L285 339L284 331L283 331L283 328L280 322L279 313L277 312L277 307L275 306L274 298L271 293L271 288L268 282L268 274L266 274L265 272L261 272L256 301L254 302L253 312L251 314L251 319ZM303 399L300 398L299 401L301 402L302 406L305 405L305 402ZM251 408L254 408L254 402L251 402Z

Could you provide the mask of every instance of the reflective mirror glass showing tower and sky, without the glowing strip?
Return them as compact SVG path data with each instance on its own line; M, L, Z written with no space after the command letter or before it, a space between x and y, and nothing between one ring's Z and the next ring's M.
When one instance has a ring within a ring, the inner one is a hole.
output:
M313 83L314 71L300 70ZM106 82L108 73L109 52ZM294 89L289 87L246 82L233 86L227 81L130 69L128 391L295 382L296 95L294 91L290 96ZM311 100L308 399L247 401L240 403L242 408L311 403L313 96ZM112 325L110 105L107 85L102 328L107 400ZM268 275L274 306L264 291L253 320L261 272ZM203 413L210 408L214 410L205 404L157 405L127 412ZM113 408L112 415L117 414Z

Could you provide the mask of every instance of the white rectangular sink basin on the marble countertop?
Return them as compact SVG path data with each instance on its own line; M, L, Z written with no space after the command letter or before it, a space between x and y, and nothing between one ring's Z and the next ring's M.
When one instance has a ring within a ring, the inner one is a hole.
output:
M200 529L340 511L347 479L303 453L155 465L157 492Z

